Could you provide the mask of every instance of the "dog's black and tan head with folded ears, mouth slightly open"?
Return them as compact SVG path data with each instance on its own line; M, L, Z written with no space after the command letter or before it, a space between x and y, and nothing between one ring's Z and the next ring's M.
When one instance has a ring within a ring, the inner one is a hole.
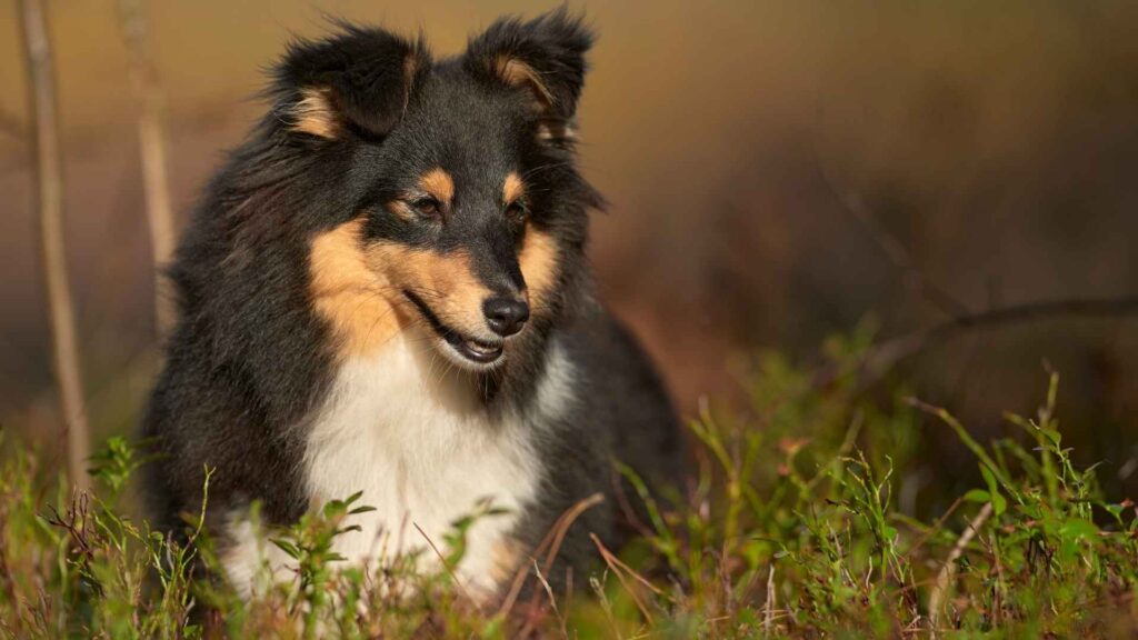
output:
M591 42L560 10L500 20L440 61L421 39L353 26L290 48L273 126L349 210L311 255L318 309L349 346L402 318L485 370L558 312L597 204L572 153Z

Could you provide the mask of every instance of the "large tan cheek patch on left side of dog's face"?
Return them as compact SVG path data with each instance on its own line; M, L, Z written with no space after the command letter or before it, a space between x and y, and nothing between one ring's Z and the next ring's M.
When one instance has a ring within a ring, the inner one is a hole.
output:
M404 322L386 295L389 285L368 265L363 222L352 220L316 236L308 256L313 304L331 326L340 358L373 351Z

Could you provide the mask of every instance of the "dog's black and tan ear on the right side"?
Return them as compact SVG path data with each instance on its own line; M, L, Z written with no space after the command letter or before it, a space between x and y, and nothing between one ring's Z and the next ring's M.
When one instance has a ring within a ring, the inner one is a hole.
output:
M543 137L571 136L593 34L564 7L529 22L503 18L472 38L465 68L486 82L526 92L543 121Z

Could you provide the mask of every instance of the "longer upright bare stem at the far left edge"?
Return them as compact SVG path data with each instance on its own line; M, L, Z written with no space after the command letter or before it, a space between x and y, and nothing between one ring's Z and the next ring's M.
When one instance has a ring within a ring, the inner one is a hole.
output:
M56 112L55 72L51 42L48 39L43 0L20 0L24 47L31 79L31 125L35 132L36 205L40 212L40 241L43 273L48 287L48 307L55 355L56 384L67 430L67 471L82 491L90 486L86 475L89 427L83 407L79 340L75 336L75 310L67 276L64 243L63 163L59 151L59 125Z

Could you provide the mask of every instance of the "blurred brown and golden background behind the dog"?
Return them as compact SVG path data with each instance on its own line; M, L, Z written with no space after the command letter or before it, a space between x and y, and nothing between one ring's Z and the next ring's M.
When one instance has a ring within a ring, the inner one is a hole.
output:
M175 219L262 112L263 69L328 16L426 30L437 55L520 1L150 1ZM155 372L138 105L117 0L49 2L65 221L96 440ZM754 354L809 361L1031 303L1138 294L1138 3L1130 0L572 5L601 39L580 121L604 298L679 407L740 393ZM19 14L0 3L0 425L59 442ZM1138 321L1048 317L938 340L894 376L983 437L1064 376L1061 416L1133 490ZM949 435L949 440L951 436ZM927 477L974 463L930 452Z

